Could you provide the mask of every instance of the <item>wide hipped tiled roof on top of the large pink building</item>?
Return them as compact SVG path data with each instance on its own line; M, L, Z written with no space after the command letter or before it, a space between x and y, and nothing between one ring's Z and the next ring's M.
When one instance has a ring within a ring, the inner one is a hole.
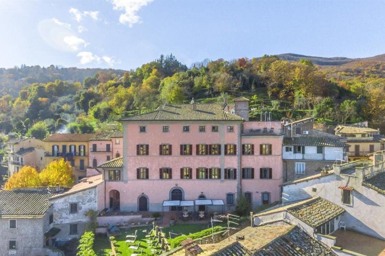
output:
M234 104L228 104L229 112L224 111L225 104L166 104L157 110L121 118L119 121L243 121L238 115L231 114Z

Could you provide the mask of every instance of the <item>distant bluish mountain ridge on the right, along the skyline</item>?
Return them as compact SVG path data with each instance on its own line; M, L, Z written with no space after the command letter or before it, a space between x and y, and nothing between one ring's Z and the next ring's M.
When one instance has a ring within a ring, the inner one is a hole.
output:
M308 56L308 55L301 55L301 54L295 54L295 53L282 53L276 55L280 60L288 60L288 61L298 61L300 59L308 59L311 60L316 65L321 66L339 66L350 62L355 61L366 61L366 60L372 60L372 61L385 61L385 54L376 55L373 57L367 57L367 58L347 58L347 57L317 57L317 56Z

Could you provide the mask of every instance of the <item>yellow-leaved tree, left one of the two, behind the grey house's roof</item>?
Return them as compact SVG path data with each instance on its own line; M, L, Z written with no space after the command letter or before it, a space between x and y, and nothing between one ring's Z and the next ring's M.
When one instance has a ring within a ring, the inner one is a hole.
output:
M39 186L41 183L36 169L31 166L24 166L9 178L4 188L12 190L12 188L36 188Z

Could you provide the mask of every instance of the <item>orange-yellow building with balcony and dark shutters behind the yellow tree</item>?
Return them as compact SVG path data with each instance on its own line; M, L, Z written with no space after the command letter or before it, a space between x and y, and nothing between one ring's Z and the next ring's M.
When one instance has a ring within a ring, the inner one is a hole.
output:
M45 165L64 158L74 168L77 181L85 178L88 163L88 142L93 134L53 134L44 140Z

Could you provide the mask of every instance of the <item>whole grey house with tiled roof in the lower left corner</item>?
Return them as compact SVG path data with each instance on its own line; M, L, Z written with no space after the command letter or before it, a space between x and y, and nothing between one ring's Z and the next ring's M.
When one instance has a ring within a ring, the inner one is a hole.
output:
M0 190L0 255L59 255L51 251L55 188Z

